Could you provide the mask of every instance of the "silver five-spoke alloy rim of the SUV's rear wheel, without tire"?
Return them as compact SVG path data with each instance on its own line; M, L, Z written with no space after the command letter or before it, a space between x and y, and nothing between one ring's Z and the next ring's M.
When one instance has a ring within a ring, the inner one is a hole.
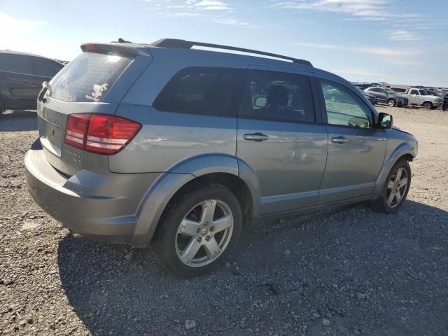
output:
M176 232L179 260L190 267L213 262L228 246L233 225L232 211L225 202L206 200L197 204L188 211Z

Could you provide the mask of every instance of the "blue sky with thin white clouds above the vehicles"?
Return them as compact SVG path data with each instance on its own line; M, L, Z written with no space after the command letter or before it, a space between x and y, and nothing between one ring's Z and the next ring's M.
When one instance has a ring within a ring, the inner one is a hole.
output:
M348 80L448 87L447 0L0 0L0 49L182 38L308 59Z

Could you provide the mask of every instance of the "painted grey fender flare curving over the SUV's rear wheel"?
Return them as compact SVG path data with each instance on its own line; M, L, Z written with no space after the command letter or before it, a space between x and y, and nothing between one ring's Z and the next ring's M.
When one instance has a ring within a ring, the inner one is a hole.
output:
M148 189L137 210L137 225L132 245L148 246L160 221L163 211L172 197L186 183L200 176L227 173L238 176L248 186L252 197L252 217L260 214L260 188L258 177L246 162L228 154L202 154L183 160L167 172L160 174Z

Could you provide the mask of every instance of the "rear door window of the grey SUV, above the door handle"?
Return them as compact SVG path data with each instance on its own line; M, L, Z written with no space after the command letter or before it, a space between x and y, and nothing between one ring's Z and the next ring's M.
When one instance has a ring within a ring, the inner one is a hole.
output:
M244 92L241 116L314 122L314 104L307 76L251 70Z

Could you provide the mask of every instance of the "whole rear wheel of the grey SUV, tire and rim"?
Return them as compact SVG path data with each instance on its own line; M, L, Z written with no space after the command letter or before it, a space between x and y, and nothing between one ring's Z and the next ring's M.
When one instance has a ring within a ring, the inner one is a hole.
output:
M174 274L198 276L220 265L241 232L237 197L221 185L195 188L177 197L162 223L162 257Z

